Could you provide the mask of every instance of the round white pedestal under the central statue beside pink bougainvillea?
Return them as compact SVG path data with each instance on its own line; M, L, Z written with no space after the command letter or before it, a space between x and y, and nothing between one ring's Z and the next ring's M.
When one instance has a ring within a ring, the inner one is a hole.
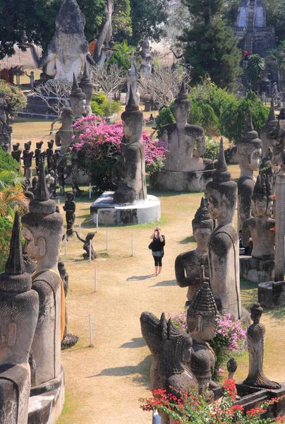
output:
M135 225L153 223L160 219L160 200L147 195L146 201L137 201L131 205L114 204L114 192L104 192L91 206L90 214L94 223L100 225Z

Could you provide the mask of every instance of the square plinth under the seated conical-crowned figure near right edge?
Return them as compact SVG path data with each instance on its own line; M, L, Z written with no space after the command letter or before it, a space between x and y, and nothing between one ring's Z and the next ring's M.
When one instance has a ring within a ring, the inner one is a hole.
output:
M245 280L262 283L262 281L274 280L274 261L255 259L251 256L243 256L239 259L239 275Z

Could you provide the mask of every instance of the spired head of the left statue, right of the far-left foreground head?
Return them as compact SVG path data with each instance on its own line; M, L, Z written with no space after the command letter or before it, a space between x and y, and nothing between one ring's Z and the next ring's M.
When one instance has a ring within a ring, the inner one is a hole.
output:
M40 177L35 190L35 200L30 201L29 212L22 218L25 252L37 261L39 268L57 267L63 219L56 213L56 203L49 199L49 190L44 174L44 163L40 163Z

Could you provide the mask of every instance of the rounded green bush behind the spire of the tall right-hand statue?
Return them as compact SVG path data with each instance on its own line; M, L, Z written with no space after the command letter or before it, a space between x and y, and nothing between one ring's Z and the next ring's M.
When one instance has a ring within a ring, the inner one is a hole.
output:
M219 119L221 132L229 141L236 143L240 139L249 108L253 116L253 127L257 133L260 133L260 129L269 115L269 110L260 102L257 95L250 91L240 102L231 103L225 107L221 114Z

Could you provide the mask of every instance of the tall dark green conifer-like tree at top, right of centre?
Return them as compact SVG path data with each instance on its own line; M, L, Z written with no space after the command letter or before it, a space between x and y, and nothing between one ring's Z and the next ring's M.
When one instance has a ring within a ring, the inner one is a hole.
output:
M221 88L232 86L241 75L241 50L231 28L222 20L223 0L184 0L190 28L180 38L186 43L185 59L192 66L192 83L207 73Z

